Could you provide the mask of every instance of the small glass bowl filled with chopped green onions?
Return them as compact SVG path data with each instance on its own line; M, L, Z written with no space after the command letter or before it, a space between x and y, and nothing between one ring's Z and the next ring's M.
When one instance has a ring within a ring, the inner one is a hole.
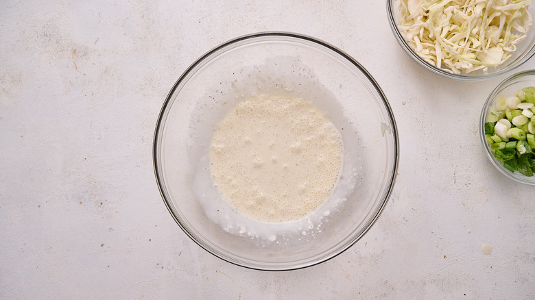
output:
M490 162L510 179L535 185L535 70L503 80L488 96L479 123Z

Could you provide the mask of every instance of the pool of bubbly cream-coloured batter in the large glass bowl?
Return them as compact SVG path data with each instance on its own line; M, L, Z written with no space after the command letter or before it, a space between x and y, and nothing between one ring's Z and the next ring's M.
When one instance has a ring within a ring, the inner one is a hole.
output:
M340 133L315 105L266 94L240 102L217 125L209 161L217 190L233 208L285 222L329 198L343 153Z

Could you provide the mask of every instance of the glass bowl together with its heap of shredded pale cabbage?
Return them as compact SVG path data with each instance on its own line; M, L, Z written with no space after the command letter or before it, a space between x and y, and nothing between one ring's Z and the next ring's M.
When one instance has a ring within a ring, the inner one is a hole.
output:
M512 71L535 54L532 0L387 0L399 45L428 71L476 81Z

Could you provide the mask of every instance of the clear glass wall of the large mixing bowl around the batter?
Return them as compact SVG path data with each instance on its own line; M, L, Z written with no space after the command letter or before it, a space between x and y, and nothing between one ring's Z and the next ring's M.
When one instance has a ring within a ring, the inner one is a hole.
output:
M306 235L299 231L265 240L232 232L232 219L228 226L214 219L209 206L216 199L204 199L214 192L213 183L203 182L211 177L200 174L209 169L213 129L229 104L279 88L316 104L340 131L344 162L335 190L352 188ZM268 271L312 266L357 242L385 208L399 162L394 116L375 79L326 42L285 32L235 38L187 68L163 103L153 151L160 193L182 230L218 258Z

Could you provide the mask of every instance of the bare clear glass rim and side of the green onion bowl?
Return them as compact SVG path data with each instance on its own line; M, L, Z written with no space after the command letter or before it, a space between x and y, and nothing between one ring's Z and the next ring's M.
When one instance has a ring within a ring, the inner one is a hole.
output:
M504 79L503 82L498 84L494 90L492 90L485 104L483 105L481 115L479 116L479 138L483 144L483 147L485 148L485 153L490 160L490 163L495 166L500 173L506 175L506 177L513 179L516 182L535 185L535 176L527 177L518 171L514 171L513 173L505 168L503 166L503 162L494 157L494 152L492 152L488 147L485 138L485 123L487 122L490 112L495 109L497 99L501 96L509 97L516 95L518 90L528 86L535 86L535 70L523 71L511 75L510 77Z

